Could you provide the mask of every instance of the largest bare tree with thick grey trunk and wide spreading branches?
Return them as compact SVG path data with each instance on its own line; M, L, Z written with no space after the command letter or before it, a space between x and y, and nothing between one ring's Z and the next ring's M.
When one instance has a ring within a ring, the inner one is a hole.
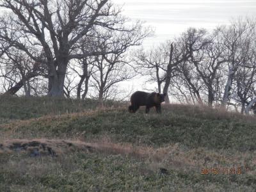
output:
M15 23L12 33L19 35L19 38L13 38L2 28L0 38L26 52L33 59L36 58L30 47L37 45L44 50L49 71L50 96L63 95L65 74L70 60L102 54L98 50L86 52L85 55L74 52L77 42L84 36L91 35L92 29L127 33L139 28L142 30L140 22L130 27L125 26L127 19L108 0L3 0L0 6L12 11L12 22ZM1 20L5 26L11 25L10 20L4 17ZM26 41L21 42L20 38Z

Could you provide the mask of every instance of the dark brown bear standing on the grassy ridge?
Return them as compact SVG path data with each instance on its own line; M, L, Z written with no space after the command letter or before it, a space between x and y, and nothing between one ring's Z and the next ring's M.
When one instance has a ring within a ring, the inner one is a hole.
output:
M164 97L166 93L147 93L147 92L134 92L131 96L131 106L128 110L130 113L135 113L140 106L146 106L146 113L152 107L156 108L157 113L161 113L161 102L164 102Z

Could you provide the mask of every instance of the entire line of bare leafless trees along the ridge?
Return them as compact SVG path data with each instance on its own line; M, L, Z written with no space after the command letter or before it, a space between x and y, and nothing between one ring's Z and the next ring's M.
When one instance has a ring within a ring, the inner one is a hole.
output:
M109 0L4 0L0 7L0 92L113 99L139 76L166 102L256 109L255 19L212 31L189 28L151 49L153 35Z

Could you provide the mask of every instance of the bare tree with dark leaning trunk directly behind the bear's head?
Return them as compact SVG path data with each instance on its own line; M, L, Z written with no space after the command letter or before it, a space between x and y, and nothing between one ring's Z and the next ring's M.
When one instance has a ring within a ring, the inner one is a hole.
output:
M158 92L161 92L161 84L164 83L163 93L166 93L165 102L170 103L168 88L172 77L180 63L188 60L189 50L186 44L179 40L168 41L148 52L139 51L135 54L136 72L150 76L150 81L157 82Z

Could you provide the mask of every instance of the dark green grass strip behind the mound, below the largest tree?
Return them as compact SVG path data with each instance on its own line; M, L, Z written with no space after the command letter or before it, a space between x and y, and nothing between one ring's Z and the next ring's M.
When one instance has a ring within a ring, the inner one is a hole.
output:
M0 95L0 123L10 120L26 120L44 115L62 115L95 109L97 100L72 100L49 97L9 97ZM120 103L108 100L106 107L120 106Z

